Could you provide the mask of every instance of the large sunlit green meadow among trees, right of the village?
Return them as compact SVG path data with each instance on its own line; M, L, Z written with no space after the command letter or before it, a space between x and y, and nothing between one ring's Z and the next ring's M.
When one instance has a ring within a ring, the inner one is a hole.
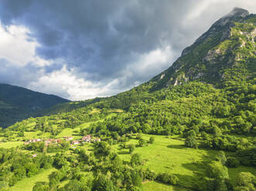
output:
M148 140L149 135L143 135L143 139ZM184 146L183 139L175 137L154 136L155 142L145 147L136 147L135 152L142 155L145 159L145 168L152 169L155 173L172 173L179 177L180 184L186 189L179 187L166 186L161 183L148 182L143 185L145 190L189 190L200 183L203 176L207 173L207 163L216 158L216 150L208 149L189 149ZM137 139L131 139L127 144L137 144ZM120 146L113 146L126 161L131 159L128 149L120 149ZM230 168L230 179L234 180L240 172L255 172L252 167ZM256 173L256 172L255 172Z

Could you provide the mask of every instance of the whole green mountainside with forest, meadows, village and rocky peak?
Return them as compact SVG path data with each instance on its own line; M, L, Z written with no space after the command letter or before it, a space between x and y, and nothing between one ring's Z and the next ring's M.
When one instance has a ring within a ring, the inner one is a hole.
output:
M255 72L256 15L235 8L150 81L3 129L0 188L50 170L27 190L254 191Z

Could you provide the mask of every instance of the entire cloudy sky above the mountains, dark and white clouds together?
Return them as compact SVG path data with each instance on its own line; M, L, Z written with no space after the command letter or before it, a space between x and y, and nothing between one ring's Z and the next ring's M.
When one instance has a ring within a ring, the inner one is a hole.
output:
M255 0L1 0L0 82L70 100L169 68L213 22Z

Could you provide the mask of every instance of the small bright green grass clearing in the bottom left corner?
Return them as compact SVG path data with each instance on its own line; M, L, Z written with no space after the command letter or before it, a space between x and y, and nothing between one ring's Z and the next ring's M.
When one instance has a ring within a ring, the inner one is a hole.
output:
M22 179L18 183L15 184L15 186L11 187L12 191L32 191L33 186L36 182L47 182L48 176L50 173L53 173L53 171L56 171L56 169L46 169L42 170L39 174L36 176L32 176L30 178Z

